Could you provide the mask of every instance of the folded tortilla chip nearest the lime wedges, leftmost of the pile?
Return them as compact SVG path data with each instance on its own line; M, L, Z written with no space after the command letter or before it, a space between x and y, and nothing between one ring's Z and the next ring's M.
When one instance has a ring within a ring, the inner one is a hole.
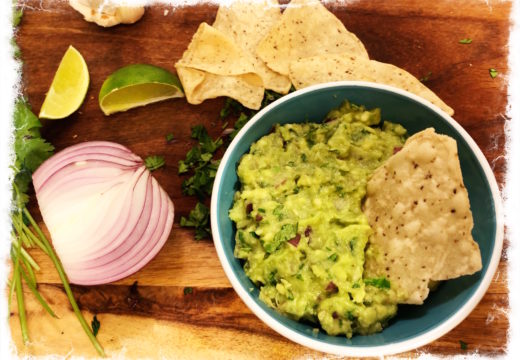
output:
M219 96L255 110L262 104L264 87L255 59L206 23L200 24L175 68L190 104Z

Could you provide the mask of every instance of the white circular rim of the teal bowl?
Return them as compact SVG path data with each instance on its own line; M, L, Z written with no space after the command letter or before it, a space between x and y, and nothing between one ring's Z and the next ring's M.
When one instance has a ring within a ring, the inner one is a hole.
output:
M453 128L464 138L470 147L471 151L477 158L484 174L486 176L486 180L489 184L491 194L493 197L494 208L495 208L495 221L496 221L496 231L495 231L495 244L493 248L493 253L491 255L491 259L489 262L488 269L484 274L477 290L473 293L470 299L460 308L458 309L452 316L446 319L441 324L436 327L416 336L408 340L387 344L387 345L378 345L378 346L370 346L370 347L353 347L349 345L334 345L328 344L319 339L311 339L293 329L283 325L278 322L276 319L271 317L269 313L263 310L258 304L256 304L251 298L250 293L242 287L240 281L238 280L237 275L233 272L225 251L222 245L222 238L220 237L220 231L217 220L217 199L219 195L219 187L221 184L221 178L224 171L224 164L229 161L231 153L235 150L237 144L240 142L244 134L256 123L258 122L265 113L271 111L271 109L279 106L280 104L298 97L303 94L311 93L316 90L325 89L325 88L335 88L335 87L365 87L372 88L377 90L384 90L388 92L397 93L403 97L407 97L415 102L420 103L421 105L433 110L437 115L442 117L446 122L448 122ZM255 116L253 116L244 127L238 132L235 136L231 144L226 149L222 160L220 161L220 165L217 170L217 174L215 176L215 181L212 189L211 196L211 206L210 206L210 217L211 217L211 231L213 235L213 242L215 244L215 248L217 251L217 255L219 257L220 263L224 268L224 272L226 273L227 278L231 282L231 285L235 289L236 293L240 296L242 301L246 304L246 306L267 326L281 334L285 338L292 340L300 345L309 347L314 350L322 351L329 354L342 355L342 356L384 356L384 355L393 355L397 353L402 353L406 351L410 351L416 348L419 348L423 345L426 345L444 334L448 333L450 330L455 328L458 324L460 324L478 305L484 294L487 292L489 285L491 284L491 280L493 279L495 272L498 268L498 264L500 261L502 246L504 240L504 220L503 220L503 209L502 209L502 200L500 197L500 192L498 189L498 185L489 166L489 163L486 160L486 157L475 143L473 138L464 130L464 128L451 116L442 111L437 106L433 105L429 101L412 94L408 91L395 88L389 85L383 85L378 83L366 82L366 81L336 81L336 82L328 82L317 84L313 86L306 87L304 89L297 90L290 94L284 95L280 99L274 101L273 103L266 106L264 109L259 111Z

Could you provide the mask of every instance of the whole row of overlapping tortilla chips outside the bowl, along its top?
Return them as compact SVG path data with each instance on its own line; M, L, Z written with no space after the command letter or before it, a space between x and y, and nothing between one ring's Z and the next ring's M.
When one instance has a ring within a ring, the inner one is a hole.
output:
M363 43L319 0L276 0L221 6L213 26L200 25L175 65L192 104L228 96L258 109L265 89L286 94L341 80L372 81L419 95L453 114L417 78L370 60Z

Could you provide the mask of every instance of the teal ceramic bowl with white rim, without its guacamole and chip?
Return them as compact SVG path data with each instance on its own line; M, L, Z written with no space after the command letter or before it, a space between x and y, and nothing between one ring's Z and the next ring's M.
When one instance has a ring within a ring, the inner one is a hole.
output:
M258 299L242 263L233 256L235 230L228 217L239 187L236 168L251 144L276 124L322 121L327 113L349 100L367 108L381 108L382 118L400 123L410 134L427 127L457 141L464 183L474 218L473 237L482 254L482 270L446 281L424 305L399 306L397 316L381 333L370 336L329 336L313 333L309 325L290 320ZM309 348L347 356L382 356L425 345L446 334L475 308L497 269L503 242L501 200L493 172L477 144L442 110L406 91L366 82L320 84L291 93L272 103L235 137L218 169L211 199L211 227L222 266L246 305L281 335Z

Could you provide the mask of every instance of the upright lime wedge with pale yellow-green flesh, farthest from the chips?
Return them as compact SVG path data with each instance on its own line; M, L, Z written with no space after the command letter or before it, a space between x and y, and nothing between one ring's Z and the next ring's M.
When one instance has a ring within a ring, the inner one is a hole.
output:
M54 74L39 117L63 119L78 110L87 94L89 81L88 68L83 56L69 46Z

